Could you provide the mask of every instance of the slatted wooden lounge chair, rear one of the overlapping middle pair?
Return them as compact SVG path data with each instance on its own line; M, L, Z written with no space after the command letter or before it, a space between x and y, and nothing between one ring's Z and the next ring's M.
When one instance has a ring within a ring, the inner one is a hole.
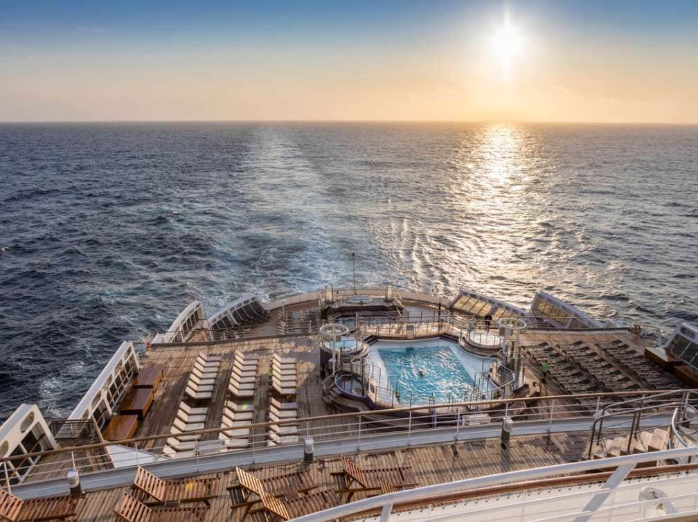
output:
M228 476L228 494L230 495L230 509L246 507L245 515L250 507L260 502L262 495L281 497L285 495L297 496L299 493L308 493L316 489L318 484L313 481L309 471L297 471L275 475L265 479L258 479L251 473L240 468L235 468L235 473Z

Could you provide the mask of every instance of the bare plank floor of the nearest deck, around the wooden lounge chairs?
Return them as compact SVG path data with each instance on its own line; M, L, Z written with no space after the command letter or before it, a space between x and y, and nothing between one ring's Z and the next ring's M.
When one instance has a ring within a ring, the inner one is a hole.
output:
M498 439L474 442L459 442L457 445L411 447L393 452L360 454L355 462L364 468L396 465L411 466L419 484L439 484L458 479L481 477L500 472L535 468L577 461L586 444L586 433L566 433L512 439L509 452L504 452ZM297 470L310 470L320 489L334 489L332 472L341 470L338 458L323 458L311 464L288 463L285 465L258 466L249 468L254 475L270 477ZM225 492L227 479L223 480L221 495L211 502L206 522L237 522L242 510L232 512L230 500ZM87 493L80 501L76 522L115 521L112 510L128 488L107 489ZM363 493L352 500L365 498Z

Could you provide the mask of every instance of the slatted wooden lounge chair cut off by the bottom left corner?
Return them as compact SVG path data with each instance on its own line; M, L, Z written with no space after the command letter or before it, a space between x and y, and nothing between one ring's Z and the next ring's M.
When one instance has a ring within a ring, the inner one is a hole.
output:
M58 497L23 500L0 489L0 519L9 522L65 520L77 515L79 497Z

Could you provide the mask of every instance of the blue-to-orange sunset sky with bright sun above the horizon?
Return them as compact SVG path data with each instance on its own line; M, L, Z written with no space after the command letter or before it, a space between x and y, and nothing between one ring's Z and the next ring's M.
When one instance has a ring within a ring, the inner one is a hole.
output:
M698 1L0 0L0 121L698 123Z

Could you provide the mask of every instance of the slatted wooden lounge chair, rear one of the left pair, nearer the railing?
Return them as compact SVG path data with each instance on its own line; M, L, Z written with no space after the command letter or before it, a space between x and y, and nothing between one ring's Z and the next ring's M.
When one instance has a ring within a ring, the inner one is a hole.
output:
M221 476L188 477L165 481L138 466L133 487L154 498L158 504L165 502L204 502L216 498L221 489Z

